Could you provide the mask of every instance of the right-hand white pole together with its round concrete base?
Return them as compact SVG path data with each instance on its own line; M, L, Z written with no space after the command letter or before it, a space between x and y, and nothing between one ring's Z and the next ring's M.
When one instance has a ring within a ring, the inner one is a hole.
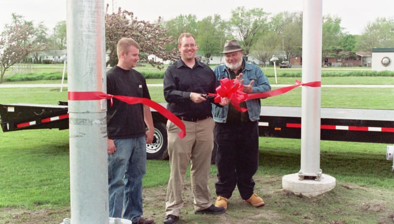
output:
M302 82L321 82L322 0L304 0L302 21ZM301 100L301 169L283 176L282 188L319 196L335 187L335 178L320 169L321 88L302 86Z

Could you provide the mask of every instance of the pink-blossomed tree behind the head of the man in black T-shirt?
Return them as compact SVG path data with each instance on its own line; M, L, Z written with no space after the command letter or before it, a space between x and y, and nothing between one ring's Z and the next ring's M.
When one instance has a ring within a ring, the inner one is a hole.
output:
M151 65L163 68L163 62L147 60L148 55L155 55L163 60L177 59L176 49L165 51L165 44L174 43L174 39L167 36L166 30L157 24L138 21L132 12L121 10L117 13L108 14L108 5L105 14L105 49L109 56L106 65L111 66L118 63L116 47L122 37L131 37L140 45L141 61L147 61Z

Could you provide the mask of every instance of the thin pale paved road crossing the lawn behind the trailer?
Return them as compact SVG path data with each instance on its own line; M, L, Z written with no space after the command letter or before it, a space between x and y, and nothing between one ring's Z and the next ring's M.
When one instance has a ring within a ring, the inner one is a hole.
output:
M0 88L34 88L34 87L61 87L62 84L0 84ZM163 86L163 84L148 84L148 86ZM285 87L289 84L271 84L272 87ZM67 87L67 84L63 84ZM322 85L322 87L344 87L344 88L394 88L394 85Z

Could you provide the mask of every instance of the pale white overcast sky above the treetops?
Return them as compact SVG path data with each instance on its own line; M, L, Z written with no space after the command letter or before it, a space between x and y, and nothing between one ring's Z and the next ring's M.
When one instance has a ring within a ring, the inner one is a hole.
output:
M264 12L297 12L303 9L303 0L104 0L114 8L121 7L134 13L138 20L164 20L183 14L194 14L200 20L219 14L229 19L231 10L238 6L246 9L263 8ZM66 0L1 0L0 30L11 21L11 13L17 13L35 24L44 22L52 30L56 23L66 20ZM341 27L350 34L361 34L366 25L378 17L394 17L394 0L323 0L323 15L338 16Z

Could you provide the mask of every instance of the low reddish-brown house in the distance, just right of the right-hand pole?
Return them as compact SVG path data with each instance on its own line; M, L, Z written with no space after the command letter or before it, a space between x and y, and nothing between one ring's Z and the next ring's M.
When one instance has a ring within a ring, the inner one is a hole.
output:
M371 52L339 52L338 57L327 56L323 59L324 66L332 67L371 67Z

